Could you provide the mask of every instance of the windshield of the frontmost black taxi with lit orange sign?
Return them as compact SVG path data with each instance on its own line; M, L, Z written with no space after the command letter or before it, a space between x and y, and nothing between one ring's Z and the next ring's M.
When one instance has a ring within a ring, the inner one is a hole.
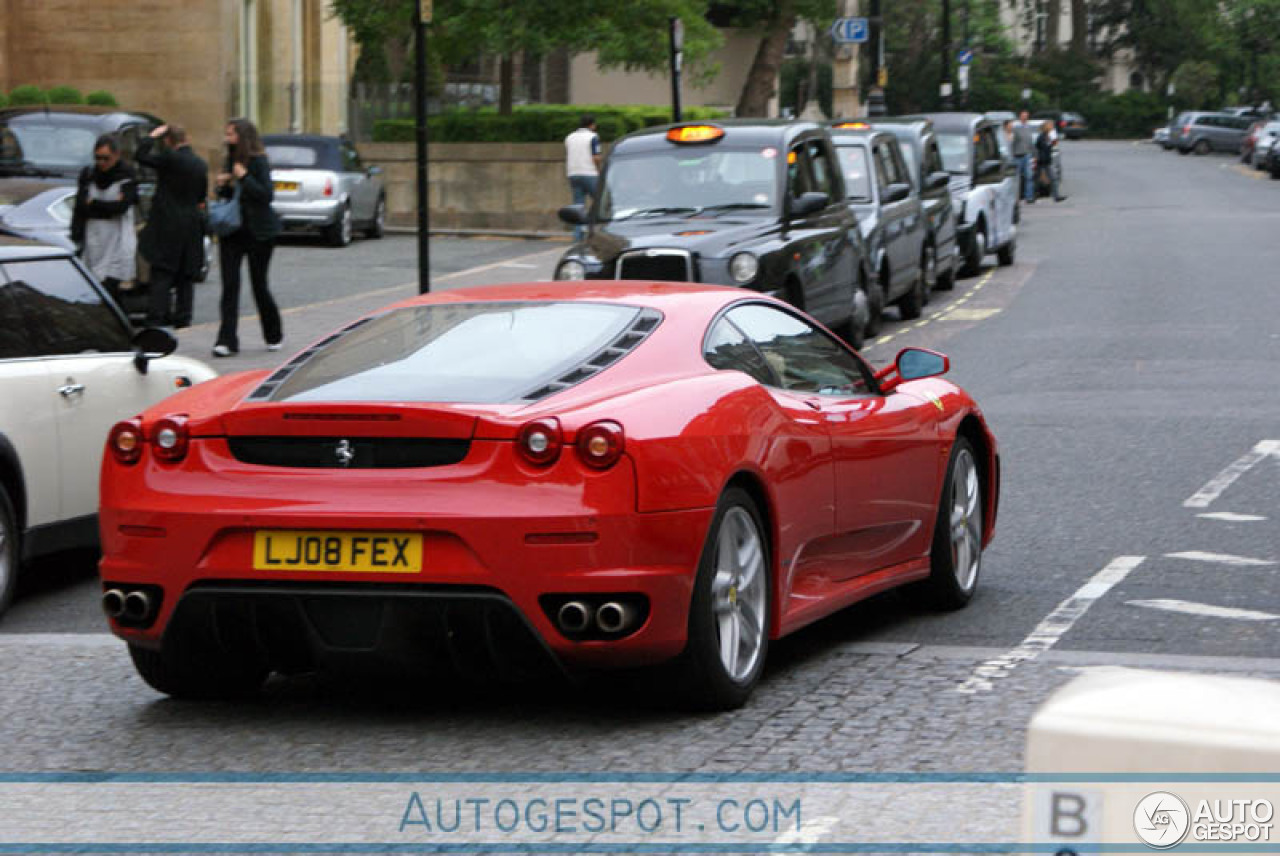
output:
M604 177L602 220L701 211L769 211L778 150L681 148L616 157Z

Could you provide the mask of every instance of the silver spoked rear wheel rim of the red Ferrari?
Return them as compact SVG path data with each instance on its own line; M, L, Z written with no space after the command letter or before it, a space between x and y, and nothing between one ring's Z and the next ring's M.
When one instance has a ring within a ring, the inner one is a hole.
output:
M764 603L768 573L764 540L755 518L735 505L721 519L716 539L712 609L721 665L733 681L744 681L764 649Z

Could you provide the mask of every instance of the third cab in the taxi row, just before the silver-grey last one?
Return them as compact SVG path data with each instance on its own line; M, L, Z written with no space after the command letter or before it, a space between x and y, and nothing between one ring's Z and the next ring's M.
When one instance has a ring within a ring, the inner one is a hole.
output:
M987 114L988 116L991 114ZM937 274L931 276L933 288L950 290L960 273L960 242L956 239L956 209L951 201L951 175L942 165L938 138L928 119L877 119L876 128L895 137L911 173L911 183L924 206L925 242L932 248ZM1002 134L997 134L997 138Z

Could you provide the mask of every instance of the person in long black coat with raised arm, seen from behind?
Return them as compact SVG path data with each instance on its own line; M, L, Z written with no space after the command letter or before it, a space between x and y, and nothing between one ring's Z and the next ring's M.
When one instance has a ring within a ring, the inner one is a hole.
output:
M138 252L151 265L147 324L191 326L193 288L205 261L209 165L179 125L152 131L138 143L137 161L156 171L151 211L138 235Z

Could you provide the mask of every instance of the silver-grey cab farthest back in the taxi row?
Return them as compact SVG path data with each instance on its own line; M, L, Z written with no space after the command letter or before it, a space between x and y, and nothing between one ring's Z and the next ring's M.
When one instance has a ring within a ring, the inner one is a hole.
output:
M951 174L963 273L978 273L988 252L997 253L1001 265L1014 264L1018 169L1000 154L1000 125L980 113L932 113L924 118L933 122L942 165Z

